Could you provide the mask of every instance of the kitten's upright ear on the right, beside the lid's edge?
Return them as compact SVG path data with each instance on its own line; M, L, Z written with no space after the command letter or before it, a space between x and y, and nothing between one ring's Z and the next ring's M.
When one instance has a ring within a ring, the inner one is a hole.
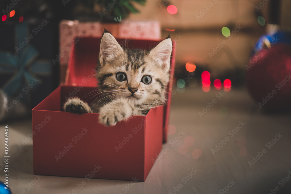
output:
M166 38L150 51L149 56L160 61L162 69L168 72L170 70L170 57L172 53L172 40Z

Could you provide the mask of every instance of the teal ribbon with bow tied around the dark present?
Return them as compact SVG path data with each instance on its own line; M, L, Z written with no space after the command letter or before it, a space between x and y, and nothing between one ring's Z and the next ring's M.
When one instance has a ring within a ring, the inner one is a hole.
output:
M27 37L28 25L17 24L16 47L19 48L19 42L22 43L24 38ZM37 57L38 51L29 43L15 55L0 51L0 64L3 66L1 71L14 73L3 88L9 96L13 96L23 85L31 84L33 79L36 78L36 74L51 73L51 63L48 61L36 61ZM2 73L1 71L0 73ZM32 89L37 89L39 85L40 83L37 82Z

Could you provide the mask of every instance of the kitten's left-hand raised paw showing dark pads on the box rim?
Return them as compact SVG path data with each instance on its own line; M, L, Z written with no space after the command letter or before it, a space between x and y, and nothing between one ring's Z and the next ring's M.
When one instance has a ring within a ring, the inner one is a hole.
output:
M80 98L70 98L65 104L64 107L65 112L72 112L74 114L83 114L91 112L92 110L89 107L89 105L84 102L83 100L80 100Z

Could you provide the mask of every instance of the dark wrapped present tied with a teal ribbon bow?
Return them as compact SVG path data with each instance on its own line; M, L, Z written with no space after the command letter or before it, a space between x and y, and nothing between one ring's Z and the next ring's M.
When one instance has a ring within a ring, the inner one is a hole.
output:
M0 45L0 88L13 99L7 110L19 101L32 108L53 90L52 39L49 27L42 27L2 26L0 34L7 38Z

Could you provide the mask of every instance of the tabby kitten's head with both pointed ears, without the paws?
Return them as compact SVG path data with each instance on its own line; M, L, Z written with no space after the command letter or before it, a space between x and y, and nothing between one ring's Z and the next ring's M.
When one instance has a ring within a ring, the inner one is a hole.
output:
M101 97L124 97L134 104L164 103L171 51L171 39L151 51L123 50L110 33L104 33L97 72L98 86L104 90Z

